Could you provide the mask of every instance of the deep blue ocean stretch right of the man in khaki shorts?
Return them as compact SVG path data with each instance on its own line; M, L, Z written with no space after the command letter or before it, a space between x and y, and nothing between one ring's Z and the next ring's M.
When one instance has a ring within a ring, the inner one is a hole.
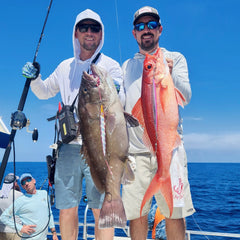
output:
M187 228L239 234L240 164L189 163L188 169L196 213L187 218Z

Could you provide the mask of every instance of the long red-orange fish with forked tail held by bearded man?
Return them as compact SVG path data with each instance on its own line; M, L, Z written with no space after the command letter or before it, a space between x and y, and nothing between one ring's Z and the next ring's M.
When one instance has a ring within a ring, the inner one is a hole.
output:
M141 97L132 115L144 129L143 142L156 156L158 169L142 200L140 215L145 203L159 190L173 211L173 193L170 165L174 148L181 143L177 132L178 105L183 107L183 95L174 87L167 62L160 48L155 54L146 54L142 75Z

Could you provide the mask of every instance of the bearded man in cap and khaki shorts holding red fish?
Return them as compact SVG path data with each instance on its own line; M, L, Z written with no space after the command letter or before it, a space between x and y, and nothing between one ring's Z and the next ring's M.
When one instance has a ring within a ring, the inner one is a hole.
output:
M126 92L125 111L130 114L141 97L145 56L146 54L152 55L159 50L159 38L163 30L158 11L149 6L142 7L136 11L133 27L132 34L137 41L139 52L133 58L125 61L122 66ZM186 105L191 99L186 59L179 52L170 52L165 48L161 48L161 51L169 67L174 85L184 96ZM182 120L181 118L179 119L178 133L182 139ZM127 219L130 220L131 239L145 240L148 232L147 215L150 211L152 199L145 204L142 216L140 216L140 207L144 194L155 176L158 165L156 156L143 143L143 128L141 126L129 128L128 132L130 139L129 154L136 159L136 171L135 181L132 184L123 186L123 203ZM181 173L181 178L179 179L182 181L177 182L179 188L175 188L172 185L174 197L171 217L166 201L160 191L155 194L155 199L161 213L165 216L167 239L183 240L185 238L184 218L195 212L188 183L187 158L183 142L174 149L173 156L170 166L171 180L173 179L172 176L174 176L172 172L177 172L177 174ZM176 168L176 164L179 164L179 168ZM179 180L178 178L175 179ZM179 189L179 193L175 189ZM177 197L175 198L175 196ZM177 202L177 200L179 201Z

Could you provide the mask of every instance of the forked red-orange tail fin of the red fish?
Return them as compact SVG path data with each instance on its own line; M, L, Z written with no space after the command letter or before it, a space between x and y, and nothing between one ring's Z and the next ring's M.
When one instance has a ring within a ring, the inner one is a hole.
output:
M170 211L170 217L172 216L173 211L173 194L172 194L172 183L171 183L171 177L170 174L168 174L165 178L160 178L159 175L156 173L154 178L152 179L144 197L142 200L141 208L140 208L140 216L142 216L142 209L147 201L149 201L152 196L157 193L158 191L161 191L161 194L163 195L169 211Z

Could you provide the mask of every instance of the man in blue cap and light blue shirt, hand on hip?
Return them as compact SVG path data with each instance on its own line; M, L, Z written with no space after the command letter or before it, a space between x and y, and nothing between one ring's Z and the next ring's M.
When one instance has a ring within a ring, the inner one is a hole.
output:
M24 173L20 182L26 194L19 197L2 214L0 220L11 228L15 228L14 215L18 216L22 224L16 222L16 228L22 239L31 237L33 240L46 240L48 225L53 233L53 240L58 240L52 210L48 201L48 194L45 190L36 189L36 180L30 173Z

